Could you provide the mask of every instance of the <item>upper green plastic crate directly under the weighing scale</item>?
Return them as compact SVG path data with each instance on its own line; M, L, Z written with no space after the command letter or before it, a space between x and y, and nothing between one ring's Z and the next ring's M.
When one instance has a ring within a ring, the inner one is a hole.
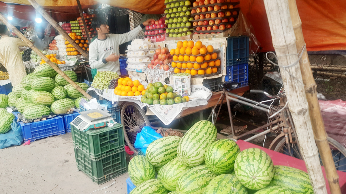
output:
M73 146L83 150L93 160L100 160L124 149L123 125L116 123L113 127L81 132L71 125Z

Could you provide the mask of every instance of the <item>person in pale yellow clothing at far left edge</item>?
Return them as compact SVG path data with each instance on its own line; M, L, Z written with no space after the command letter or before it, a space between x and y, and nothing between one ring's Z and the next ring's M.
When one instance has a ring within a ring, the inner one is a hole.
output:
M9 37L6 25L0 25L0 35L0 62L7 69L12 86L16 86L26 76L18 46L27 44L18 38Z

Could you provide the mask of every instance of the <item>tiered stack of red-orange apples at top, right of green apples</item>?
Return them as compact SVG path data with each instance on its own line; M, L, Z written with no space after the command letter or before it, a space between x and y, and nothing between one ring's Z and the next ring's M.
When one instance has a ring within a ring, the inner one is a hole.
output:
M239 1L197 0L193 2L191 16L194 34L221 33L234 25L239 15Z

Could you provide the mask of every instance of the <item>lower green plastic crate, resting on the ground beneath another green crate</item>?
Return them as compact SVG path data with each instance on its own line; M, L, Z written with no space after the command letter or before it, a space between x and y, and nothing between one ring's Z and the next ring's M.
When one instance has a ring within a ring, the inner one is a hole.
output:
M91 159L81 149L74 148L74 154L77 168L88 175L97 185L112 180L112 177L115 178L127 173L125 149L99 161Z

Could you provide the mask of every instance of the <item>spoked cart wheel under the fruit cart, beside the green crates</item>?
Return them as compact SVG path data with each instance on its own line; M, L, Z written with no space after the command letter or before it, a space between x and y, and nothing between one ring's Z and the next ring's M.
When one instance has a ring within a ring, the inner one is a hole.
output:
M138 155L137 150L134 147L137 133L139 133L144 126L149 126L150 121L145 115L143 109L141 109L136 103L125 103L121 108L121 124L124 125L124 139L130 149Z

